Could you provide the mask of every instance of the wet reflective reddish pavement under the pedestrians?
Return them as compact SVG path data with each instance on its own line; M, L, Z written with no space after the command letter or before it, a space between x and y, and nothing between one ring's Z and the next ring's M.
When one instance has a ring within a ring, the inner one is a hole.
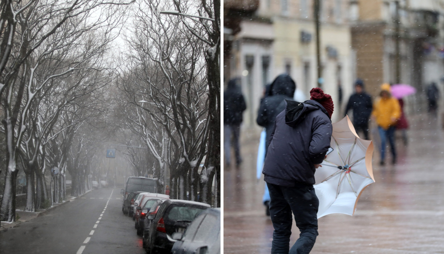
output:
M354 216L319 219L311 254L444 253L444 132L428 114L409 121L407 146L396 133L398 163L379 166L375 146L376 183L363 191ZM241 167L224 167L224 253L270 253L273 226L262 204L264 181L256 180L257 130L242 130ZM292 232L290 245L299 235L294 220Z

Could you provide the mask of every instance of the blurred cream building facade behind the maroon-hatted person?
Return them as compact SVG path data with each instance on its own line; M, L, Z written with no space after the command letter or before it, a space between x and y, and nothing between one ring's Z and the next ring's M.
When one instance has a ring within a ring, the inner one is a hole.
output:
M353 92L355 55L348 0L321 1L323 90L335 103L333 119L342 116ZM317 87L313 0L224 0L224 79L242 78L246 126L255 126L264 86L289 73L309 99Z

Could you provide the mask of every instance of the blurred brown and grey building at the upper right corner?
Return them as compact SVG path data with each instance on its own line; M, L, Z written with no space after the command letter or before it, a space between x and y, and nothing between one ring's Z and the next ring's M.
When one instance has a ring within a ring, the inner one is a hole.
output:
M376 96L384 82L399 81L418 91L440 83L443 0L352 0L349 10L356 75L370 94ZM421 93L416 98L425 99Z

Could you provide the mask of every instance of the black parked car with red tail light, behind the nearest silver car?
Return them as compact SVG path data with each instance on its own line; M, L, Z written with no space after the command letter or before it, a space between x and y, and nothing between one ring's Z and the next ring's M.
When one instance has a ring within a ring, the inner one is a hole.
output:
M169 199L164 201L156 215L151 219L145 250L148 254L170 253L175 241L171 238L174 232L184 233L188 225L210 205L188 200Z

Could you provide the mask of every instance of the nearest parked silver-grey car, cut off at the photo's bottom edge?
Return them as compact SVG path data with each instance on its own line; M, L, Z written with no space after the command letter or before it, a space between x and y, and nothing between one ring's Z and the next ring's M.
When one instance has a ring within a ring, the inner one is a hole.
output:
M171 238L177 240L172 254L220 254L221 252L221 210L210 208L202 211L186 228L185 233L174 232Z

